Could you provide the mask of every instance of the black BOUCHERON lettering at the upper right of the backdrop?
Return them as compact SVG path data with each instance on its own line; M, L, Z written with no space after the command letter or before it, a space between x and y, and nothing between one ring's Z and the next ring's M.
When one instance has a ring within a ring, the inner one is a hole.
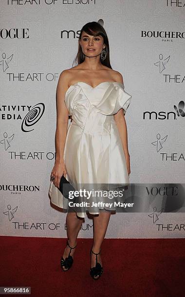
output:
M155 37L155 38L185 38L185 32L173 31L141 31L141 37Z

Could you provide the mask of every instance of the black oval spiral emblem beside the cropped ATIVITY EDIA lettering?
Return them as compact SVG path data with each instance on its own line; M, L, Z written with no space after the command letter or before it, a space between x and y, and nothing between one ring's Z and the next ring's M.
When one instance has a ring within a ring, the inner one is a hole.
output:
M45 110L44 103L38 103L33 106L29 113L24 117L21 129L23 132L30 132L30 127L35 125L37 121L41 118Z

